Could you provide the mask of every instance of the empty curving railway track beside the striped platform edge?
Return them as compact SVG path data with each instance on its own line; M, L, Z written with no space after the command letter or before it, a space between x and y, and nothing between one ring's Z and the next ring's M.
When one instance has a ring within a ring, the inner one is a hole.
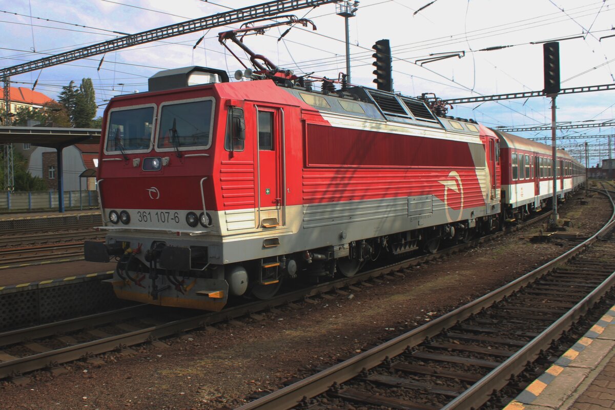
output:
M496 392L511 378L518 383L514 377L602 298L610 295L612 306L614 226L615 211L598 234L554 261L237 410L450 410L498 401Z

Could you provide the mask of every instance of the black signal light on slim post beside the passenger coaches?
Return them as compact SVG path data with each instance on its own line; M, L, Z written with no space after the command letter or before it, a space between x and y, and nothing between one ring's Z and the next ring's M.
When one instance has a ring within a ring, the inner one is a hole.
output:
M557 226L557 146L555 143L555 97L560 92L560 43L547 42L542 45L544 52L544 90L547 97L551 97L551 146L553 162L553 226Z

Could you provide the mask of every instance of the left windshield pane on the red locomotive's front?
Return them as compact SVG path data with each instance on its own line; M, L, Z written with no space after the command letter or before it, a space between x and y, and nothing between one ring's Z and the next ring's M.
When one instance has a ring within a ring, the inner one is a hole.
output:
M109 117L106 151L149 149L154 123L154 107L112 111Z

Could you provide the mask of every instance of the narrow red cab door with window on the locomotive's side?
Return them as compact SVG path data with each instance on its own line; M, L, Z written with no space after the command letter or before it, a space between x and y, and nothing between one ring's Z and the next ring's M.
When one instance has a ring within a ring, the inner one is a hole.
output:
M258 227L284 225L284 110L256 107Z

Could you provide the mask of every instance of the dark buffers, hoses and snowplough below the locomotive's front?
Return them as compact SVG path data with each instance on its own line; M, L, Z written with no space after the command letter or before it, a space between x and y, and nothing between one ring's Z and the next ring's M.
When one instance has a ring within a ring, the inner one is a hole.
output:
M248 273L242 266L204 264L207 246L172 246L153 241L148 249L129 241L92 242L84 245L85 260L118 260L114 293L122 299L189 309L221 310L229 295L247 291Z

